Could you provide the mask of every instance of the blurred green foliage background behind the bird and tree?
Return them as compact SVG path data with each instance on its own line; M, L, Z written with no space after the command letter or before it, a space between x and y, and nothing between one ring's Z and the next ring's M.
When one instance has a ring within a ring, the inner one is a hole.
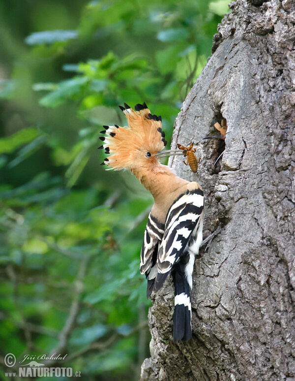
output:
M99 131L146 101L169 148L227 4L0 0L1 362L57 352L83 380L139 380L152 198L99 165Z

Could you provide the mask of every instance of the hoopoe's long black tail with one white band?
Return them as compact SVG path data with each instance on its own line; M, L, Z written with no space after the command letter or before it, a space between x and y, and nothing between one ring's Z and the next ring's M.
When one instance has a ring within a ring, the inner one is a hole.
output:
M185 276L189 255L183 255L172 270L174 283L173 339L189 340L192 337L190 287Z

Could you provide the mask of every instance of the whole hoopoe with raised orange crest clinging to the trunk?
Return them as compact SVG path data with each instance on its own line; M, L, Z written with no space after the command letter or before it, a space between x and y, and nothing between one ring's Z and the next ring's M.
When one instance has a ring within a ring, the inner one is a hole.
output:
M110 156L102 164L115 170L127 169L150 191L154 204L141 250L140 272L148 280L147 297L163 286L171 273L175 289L174 341L192 337L191 300L195 254L203 241L204 193L196 182L178 177L159 158L182 155L163 151L166 145L162 119L152 115L146 105L135 110L126 103L119 106L128 127L103 126L101 136Z

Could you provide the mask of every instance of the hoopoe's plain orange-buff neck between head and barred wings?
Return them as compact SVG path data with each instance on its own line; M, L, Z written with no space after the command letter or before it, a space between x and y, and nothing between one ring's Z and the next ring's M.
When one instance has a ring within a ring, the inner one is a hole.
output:
M160 163L151 168L133 169L131 172L152 194L155 203L162 202L171 192L188 183L178 177L167 165Z

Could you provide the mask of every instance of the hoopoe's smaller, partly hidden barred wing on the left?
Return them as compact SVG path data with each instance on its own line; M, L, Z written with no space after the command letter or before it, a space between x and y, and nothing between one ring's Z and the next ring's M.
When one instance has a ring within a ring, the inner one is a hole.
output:
M146 274L148 279L147 297L150 297L155 278L157 276L157 257L159 244L164 234L164 224L151 215L145 231L144 242L141 250L140 272Z

